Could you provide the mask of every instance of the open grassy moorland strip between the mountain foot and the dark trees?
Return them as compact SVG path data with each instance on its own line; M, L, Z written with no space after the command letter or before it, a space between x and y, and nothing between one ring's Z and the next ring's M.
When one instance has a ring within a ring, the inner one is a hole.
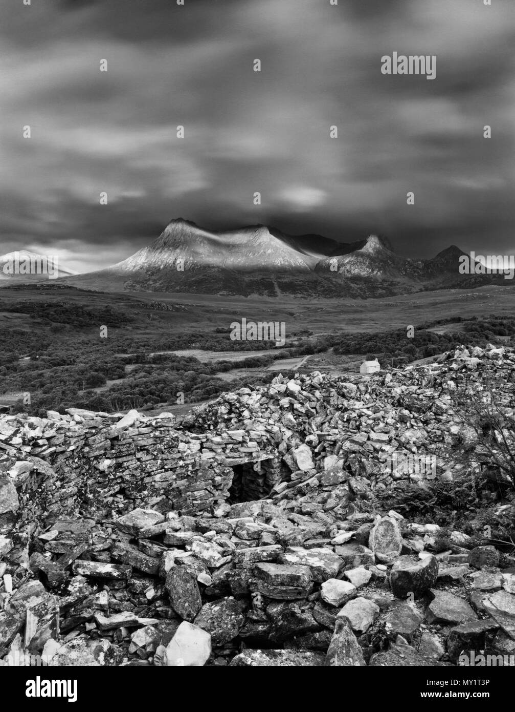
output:
M55 339L67 329L43 319L33 319L24 313L2 310L4 303L19 300L60 302L80 305L110 306L129 313L134 321L122 325L126 335L149 337L173 330L196 331L213 328L230 330L232 321L245 317L255 321L284 321L287 336L309 329L315 334L355 331L380 332L405 325L418 324L452 315L462 318L495 313L515 313L515 287L488 286L476 290L439 290L386 299L324 299L280 300L270 298L237 298L213 295L169 293L101 293L68 287L59 289L21 289L0 287L0 335L4 328L21 328L48 332ZM162 303L171 310L149 308ZM445 327L447 329L447 326ZM97 326L83 333L95 335ZM117 330L120 332L120 329Z

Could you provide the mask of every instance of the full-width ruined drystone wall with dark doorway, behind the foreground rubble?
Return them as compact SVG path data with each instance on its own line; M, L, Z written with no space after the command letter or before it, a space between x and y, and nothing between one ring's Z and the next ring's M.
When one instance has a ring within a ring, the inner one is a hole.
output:
M418 456L452 476L455 441L476 443L453 412L452 394L497 384L495 397L508 407L514 372L513 350L462 348L434 365L367 379L278 376L267 387L222 394L181 427L171 414L137 412L0 417L0 548L6 533L73 513L112 519L141 507L196 515L229 499L273 490L280 500L333 481L340 499L384 490L420 481L408 471ZM389 466L394 460L403 467Z

